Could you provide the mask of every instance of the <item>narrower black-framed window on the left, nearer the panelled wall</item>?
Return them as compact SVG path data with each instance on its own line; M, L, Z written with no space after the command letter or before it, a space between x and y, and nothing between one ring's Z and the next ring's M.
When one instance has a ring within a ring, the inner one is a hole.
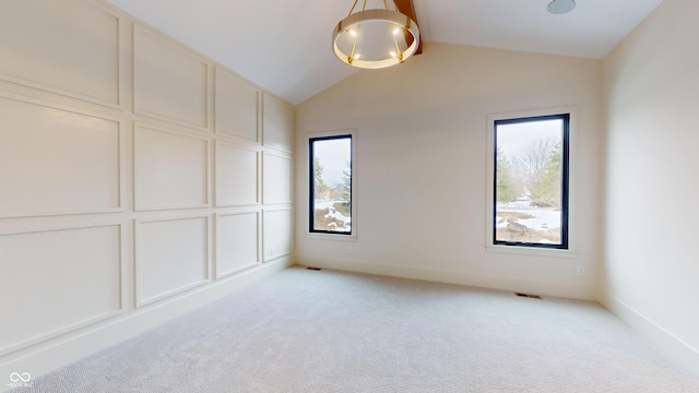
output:
M352 134L309 139L309 231L352 235Z

